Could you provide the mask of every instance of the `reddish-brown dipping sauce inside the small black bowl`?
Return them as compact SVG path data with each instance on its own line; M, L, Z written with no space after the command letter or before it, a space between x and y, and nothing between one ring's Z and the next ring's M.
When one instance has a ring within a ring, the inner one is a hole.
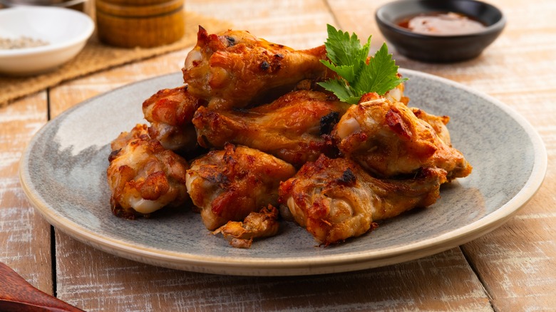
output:
M465 35L486 28L479 21L453 12L413 16L398 22L398 26L408 28L413 33L438 36Z

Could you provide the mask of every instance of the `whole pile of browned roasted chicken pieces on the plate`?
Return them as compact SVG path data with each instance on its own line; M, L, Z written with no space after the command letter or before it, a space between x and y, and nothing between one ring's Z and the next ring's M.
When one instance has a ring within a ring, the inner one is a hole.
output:
M145 100L149 125L111 144L112 212L193 207L240 248L284 219L326 246L427 207L441 184L470 174L447 116L409 108L403 84L343 103L316 85L335 78L321 60L324 46L296 51L200 27L185 84Z

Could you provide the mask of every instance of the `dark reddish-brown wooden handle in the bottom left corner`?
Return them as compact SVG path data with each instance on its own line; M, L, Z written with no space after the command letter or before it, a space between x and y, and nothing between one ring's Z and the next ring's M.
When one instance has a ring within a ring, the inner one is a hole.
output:
M0 262L0 311L83 311L43 293Z

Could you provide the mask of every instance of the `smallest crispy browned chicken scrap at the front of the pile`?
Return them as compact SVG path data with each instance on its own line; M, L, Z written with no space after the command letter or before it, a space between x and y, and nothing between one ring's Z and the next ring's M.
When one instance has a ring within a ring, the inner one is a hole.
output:
M253 239L274 236L278 229L278 209L269 204L259 212L249 213L243 222L228 221L212 234L222 233L230 245L247 249L251 247Z

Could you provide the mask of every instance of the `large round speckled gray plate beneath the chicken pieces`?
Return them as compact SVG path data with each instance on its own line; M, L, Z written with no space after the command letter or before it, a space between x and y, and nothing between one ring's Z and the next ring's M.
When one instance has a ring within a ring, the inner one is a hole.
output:
M76 105L43 127L21 159L21 184L54 227L110 254L169 268L216 274L304 275L354 271L435 254L500 226L537 191L547 155L537 132L493 98L416 71L411 106L451 116L453 144L473 174L443 187L441 199L344 244L316 246L290 222L279 235L234 249L210 235L193 212L128 221L109 207L109 142L143 123L141 103L180 85L180 73L141 81Z

